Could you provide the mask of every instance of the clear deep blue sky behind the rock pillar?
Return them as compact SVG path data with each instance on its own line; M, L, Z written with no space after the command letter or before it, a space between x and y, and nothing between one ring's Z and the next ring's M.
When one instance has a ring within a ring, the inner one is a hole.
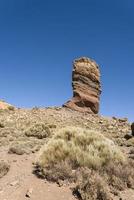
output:
M1 99L62 105L80 56L100 65L100 113L134 120L133 0L0 0Z

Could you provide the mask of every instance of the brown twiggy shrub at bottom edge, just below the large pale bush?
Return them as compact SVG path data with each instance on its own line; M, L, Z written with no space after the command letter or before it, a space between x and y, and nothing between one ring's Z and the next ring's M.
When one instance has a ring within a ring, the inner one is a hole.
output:
M81 168L78 170L77 184L74 194L81 200L111 200L106 181L94 170Z

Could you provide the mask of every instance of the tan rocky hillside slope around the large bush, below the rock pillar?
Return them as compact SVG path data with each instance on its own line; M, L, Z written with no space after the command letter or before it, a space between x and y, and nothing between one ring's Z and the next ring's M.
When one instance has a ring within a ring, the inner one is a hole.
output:
M74 183L59 180L56 184L33 174L33 162L39 150L63 127L80 127L101 133L112 140L128 160L134 159L134 139L126 139L125 135L131 130L125 118L107 118L61 107L0 110L0 160L10 165L7 174L0 179L1 200L27 199L27 190L32 200L43 200L44 197L47 200L75 199L69 189ZM129 187L111 195L113 200L134 199L133 188Z

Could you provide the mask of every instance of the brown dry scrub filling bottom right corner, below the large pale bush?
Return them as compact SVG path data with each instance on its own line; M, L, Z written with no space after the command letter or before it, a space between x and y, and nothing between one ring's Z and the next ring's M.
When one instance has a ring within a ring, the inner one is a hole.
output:
M109 163L100 170L80 168L74 193L82 200L110 200L119 191L134 188L134 162ZM113 195L112 195L113 194ZM112 196L111 196L112 195Z

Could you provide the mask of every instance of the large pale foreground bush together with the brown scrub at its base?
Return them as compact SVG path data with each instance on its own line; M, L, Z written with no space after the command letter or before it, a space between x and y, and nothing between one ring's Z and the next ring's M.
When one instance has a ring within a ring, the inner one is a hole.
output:
M110 200L134 185L134 163L113 141L88 129L59 130L41 149L35 173L49 181L74 181L82 200Z

